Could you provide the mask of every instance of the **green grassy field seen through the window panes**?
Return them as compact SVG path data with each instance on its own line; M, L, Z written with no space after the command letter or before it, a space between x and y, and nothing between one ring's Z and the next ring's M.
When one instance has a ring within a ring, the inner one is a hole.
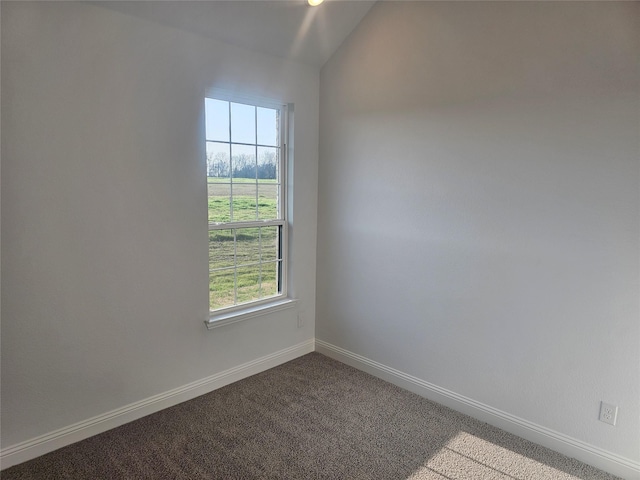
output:
M232 204L234 221L277 218L277 187L275 180L234 178L230 184L228 178L209 177L209 222L230 221ZM210 310L278 293L279 230L269 226L209 232Z

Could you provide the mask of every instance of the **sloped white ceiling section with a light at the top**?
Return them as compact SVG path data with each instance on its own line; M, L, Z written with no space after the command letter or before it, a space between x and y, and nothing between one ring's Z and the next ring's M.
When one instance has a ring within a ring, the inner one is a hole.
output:
M105 1L100 6L260 53L321 67L375 1Z

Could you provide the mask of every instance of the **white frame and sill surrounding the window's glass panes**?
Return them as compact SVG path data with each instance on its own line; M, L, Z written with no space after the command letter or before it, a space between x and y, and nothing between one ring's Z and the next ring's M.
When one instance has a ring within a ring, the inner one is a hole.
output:
M264 315L267 313L276 312L286 308L293 307L295 300L288 297L289 290L289 192L288 192L288 165L289 165L289 111L290 106L284 103L273 102L264 99L257 99L252 97L243 97L238 95L230 95L225 92L208 92L205 98L211 98L215 100L222 100L225 102L239 103L250 105L253 107L262 107L269 109L277 109L280 112L280 155L278 165L278 183L279 183L279 196L278 196L278 208L280 212L280 218L276 220L255 220L255 221L229 221L220 223L209 223L207 229L207 236L209 232L215 230L231 230L236 228L257 228L278 226L280 228L280 269L279 269L279 284L280 292L277 295L273 295L267 298L253 300L238 305L229 307L223 307L211 311L210 297L209 303L209 317L205 320L205 325L208 329L228 325L230 323L239 322L245 319L253 318L256 316ZM205 136L205 144L208 140ZM231 143L231 138L229 138ZM256 139L257 142L257 139ZM259 145L256 143L256 146ZM232 173L230 172L230 175ZM233 182L232 182L233 183ZM208 185L207 185L208 189ZM207 194L208 198L208 194ZM207 213L208 217L208 213ZM208 247L207 247L208 251ZM207 265L209 265L209 256L207 255ZM207 276L209 278L209 276ZM207 283L208 284L208 283ZM208 289L207 289L208 291Z

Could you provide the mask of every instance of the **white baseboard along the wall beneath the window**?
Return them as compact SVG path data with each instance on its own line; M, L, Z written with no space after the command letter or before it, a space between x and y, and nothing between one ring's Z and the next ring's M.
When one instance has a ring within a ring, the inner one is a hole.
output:
M169 390L153 397L134 402L117 408L102 415L83 420L82 422L60 428L31 440L21 442L0 450L0 465L2 469L9 468L27 460L39 457L45 453L71 445L93 435L106 432L125 423L137 420L151 413L158 412L178 403L191 400L205 393L250 377L276 367L314 351L314 340L307 340L289 348L266 355L251 362L230 368L224 372L211 375L182 387Z

